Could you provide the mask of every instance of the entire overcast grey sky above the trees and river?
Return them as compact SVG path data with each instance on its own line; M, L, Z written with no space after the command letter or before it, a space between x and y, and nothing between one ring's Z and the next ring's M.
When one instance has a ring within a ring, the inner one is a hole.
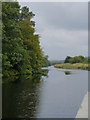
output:
M36 33L50 60L88 56L88 3L22 2L35 13Z

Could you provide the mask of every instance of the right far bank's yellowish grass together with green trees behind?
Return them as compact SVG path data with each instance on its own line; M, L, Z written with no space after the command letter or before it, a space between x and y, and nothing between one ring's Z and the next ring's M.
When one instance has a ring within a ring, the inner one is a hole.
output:
M62 69L83 69L88 70L88 58L83 56L67 56L63 64L56 64L54 67Z

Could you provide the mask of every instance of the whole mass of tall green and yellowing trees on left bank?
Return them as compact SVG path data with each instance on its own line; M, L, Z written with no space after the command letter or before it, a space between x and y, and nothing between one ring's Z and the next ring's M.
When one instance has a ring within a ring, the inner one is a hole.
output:
M33 75L48 61L35 34L35 16L18 2L2 3L2 73L3 76Z

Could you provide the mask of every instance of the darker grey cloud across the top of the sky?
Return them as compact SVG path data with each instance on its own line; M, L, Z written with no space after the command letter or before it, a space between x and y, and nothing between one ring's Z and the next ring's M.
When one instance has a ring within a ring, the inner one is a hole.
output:
M88 3L31 3L31 6L37 15L54 28L88 28Z

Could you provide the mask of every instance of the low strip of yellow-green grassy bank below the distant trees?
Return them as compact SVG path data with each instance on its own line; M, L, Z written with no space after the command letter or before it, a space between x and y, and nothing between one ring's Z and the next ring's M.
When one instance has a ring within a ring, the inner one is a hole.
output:
M64 64L56 64L54 65L55 68L62 68L62 69L82 69L82 70L88 70L88 64L83 63L64 63Z

